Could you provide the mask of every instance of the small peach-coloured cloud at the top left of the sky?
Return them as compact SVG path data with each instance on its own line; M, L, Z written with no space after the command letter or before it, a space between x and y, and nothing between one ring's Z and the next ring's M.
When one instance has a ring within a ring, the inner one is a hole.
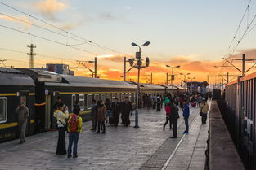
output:
M34 6L47 19L56 20L56 12L64 11L68 6L63 2L57 0L43 0L35 2Z

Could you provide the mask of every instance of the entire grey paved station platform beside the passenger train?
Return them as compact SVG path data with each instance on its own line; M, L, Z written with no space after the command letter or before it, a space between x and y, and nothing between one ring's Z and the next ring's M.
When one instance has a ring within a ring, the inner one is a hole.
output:
M89 130L91 122L85 122L77 159L56 155L57 132L26 137L21 145L19 140L2 143L0 169L204 169L209 120L201 125L199 111L198 107L191 108L187 135L183 135L185 124L179 111L176 139L169 138L172 131L168 126L163 131L164 110L141 109L139 129L133 128L134 116L129 127L106 124L106 134L93 133Z

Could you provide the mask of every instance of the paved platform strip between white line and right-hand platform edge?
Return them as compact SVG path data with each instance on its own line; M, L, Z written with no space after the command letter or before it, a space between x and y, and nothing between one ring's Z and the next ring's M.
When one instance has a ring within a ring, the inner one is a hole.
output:
M191 124L190 133L184 137L165 169L204 170L204 151L207 147L208 129L209 119L206 125L201 125L201 117L196 116L195 122Z

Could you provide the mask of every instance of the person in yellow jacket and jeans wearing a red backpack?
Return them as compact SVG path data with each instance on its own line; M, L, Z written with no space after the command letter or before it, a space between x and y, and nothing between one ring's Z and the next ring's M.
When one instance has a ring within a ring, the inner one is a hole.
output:
M79 134L82 132L83 120L82 117L79 116L80 109L74 108L73 115L70 116L68 121L68 133L69 133L69 146L68 146L68 158L70 158L71 150L73 146L73 158L78 157L78 142L79 142Z

